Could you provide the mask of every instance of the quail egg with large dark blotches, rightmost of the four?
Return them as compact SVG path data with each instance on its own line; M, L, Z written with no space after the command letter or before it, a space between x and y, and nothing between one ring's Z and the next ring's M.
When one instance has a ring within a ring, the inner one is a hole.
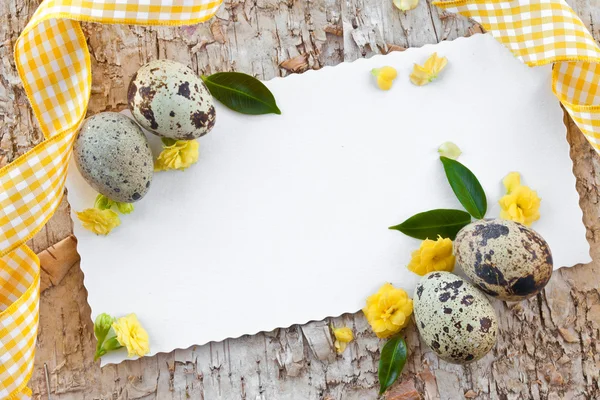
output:
M534 230L501 219L465 226L454 241L463 271L485 293L518 301L539 293L552 276L552 253Z

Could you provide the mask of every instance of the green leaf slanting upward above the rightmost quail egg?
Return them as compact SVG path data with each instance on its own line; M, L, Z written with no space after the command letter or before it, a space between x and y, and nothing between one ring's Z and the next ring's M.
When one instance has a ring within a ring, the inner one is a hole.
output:
M465 210L477 219L482 219L487 211L487 199L481 184L464 165L448 157L440 157L448 182Z

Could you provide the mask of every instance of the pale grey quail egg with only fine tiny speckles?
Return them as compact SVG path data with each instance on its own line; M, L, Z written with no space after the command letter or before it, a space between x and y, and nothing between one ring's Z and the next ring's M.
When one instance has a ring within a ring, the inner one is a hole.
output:
M111 200L140 200L152 182L154 163L146 136L123 114L103 112L84 121L73 149L83 178Z

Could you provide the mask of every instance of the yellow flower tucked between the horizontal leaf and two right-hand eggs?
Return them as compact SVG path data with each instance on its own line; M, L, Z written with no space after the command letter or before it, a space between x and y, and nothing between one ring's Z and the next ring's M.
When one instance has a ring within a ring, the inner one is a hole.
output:
M452 240L440 236L437 240L423 240L419 249L413 251L408 269L421 276L432 271L452 272L454 269Z

